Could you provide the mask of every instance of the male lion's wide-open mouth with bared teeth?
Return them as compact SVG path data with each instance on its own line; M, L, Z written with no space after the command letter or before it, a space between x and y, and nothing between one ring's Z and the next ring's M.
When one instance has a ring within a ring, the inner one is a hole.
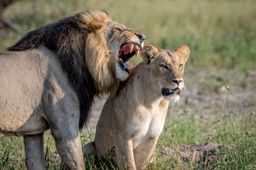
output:
M138 57L140 49L141 48L135 43L125 43L120 47L118 52L118 63L122 70L125 70L127 73L129 73L128 62L130 58L133 57L133 55Z

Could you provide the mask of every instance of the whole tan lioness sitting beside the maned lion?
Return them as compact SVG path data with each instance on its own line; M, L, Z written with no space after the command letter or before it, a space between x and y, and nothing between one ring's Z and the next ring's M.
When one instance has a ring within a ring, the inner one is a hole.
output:
M108 97L95 141L84 147L85 152L96 149L104 156L115 147L120 169L145 169L163 130L169 101L179 100L189 54L185 45L175 52L145 46L143 62Z

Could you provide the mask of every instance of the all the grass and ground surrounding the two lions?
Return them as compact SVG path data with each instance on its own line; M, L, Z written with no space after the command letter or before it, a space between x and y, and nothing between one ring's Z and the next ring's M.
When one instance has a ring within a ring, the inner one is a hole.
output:
M190 47L184 71L187 91L181 91L181 101L170 106L157 148L209 141L236 145L239 147L233 153L222 154L231 157L209 169L255 169L255 0L20 0L0 13L20 25L24 33L0 30L0 51L14 45L27 31L86 9L107 11L113 20L145 34L145 44L172 50L181 44ZM139 61L140 57L133 58L130 66ZM93 130L104 100L98 103L91 115ZM47 169L60 169L50 132L45 136ZM93 139L89 136L90 140L82 136L84 144ZM0 169L25 169L23 150L21 138L1 138ZM170 169L166 158L159 159L159 155L148 169ZM175 159L171 163L181 165ZM187 165L186 169L194 169L193 163Z

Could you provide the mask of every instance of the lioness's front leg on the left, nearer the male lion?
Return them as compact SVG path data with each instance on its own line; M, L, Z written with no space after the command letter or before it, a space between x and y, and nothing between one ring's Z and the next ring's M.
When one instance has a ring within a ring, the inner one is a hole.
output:
M120 169L136 169L133 157L133 140L122 137L114 138L114 147L117 154L117 163Z

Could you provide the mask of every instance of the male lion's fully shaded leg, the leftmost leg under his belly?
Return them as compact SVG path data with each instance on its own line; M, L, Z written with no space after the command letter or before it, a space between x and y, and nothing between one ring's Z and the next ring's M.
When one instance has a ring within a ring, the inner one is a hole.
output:
M44 133L23 137L27 169L45 169Z

